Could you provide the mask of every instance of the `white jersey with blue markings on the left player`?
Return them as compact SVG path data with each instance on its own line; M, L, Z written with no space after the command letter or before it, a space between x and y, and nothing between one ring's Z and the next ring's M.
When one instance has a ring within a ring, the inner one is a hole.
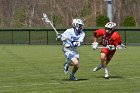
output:
M73 41L78 41L80 43L83 42L85 33L82 31L80 34L76 33L74 28L67 29L62 35L62 41L64 45L64 52L68 51L75 51L76 52L76 47L72 46ZM65 44L70 45L70 47L66 47Z

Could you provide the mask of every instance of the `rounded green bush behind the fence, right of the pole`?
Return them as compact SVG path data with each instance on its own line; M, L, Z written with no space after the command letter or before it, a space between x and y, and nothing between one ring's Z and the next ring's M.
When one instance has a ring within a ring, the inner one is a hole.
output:
M123 21L124 27L135 27L136 21L133 16L126 16Z

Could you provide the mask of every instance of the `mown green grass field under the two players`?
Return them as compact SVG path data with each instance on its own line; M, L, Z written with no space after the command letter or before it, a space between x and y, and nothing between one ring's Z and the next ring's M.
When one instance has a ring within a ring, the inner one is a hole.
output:
M140 93L140 47L117 50L110 79L93 72L99 51L81 46L80 68L70 81L64 75L61 45L0 45L0 93ZM69 69L71 71L71 68Z

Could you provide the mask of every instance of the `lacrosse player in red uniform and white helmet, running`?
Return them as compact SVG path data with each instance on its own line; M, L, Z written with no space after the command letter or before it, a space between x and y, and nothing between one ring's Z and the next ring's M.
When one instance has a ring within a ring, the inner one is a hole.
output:
M98 48L97 39L101 37L100 44L103 45L100 58L101 64L93 69L94 72L98 71L99 69L103 68L105 75L105 79L109 79L107 64L112 59L113 55L116 52L116 47L121 46L121 39L119 34L115 31L116 23L108 22L105 25L105 29L98 29L94 32L93 35L93 43L92 48L95 50Z

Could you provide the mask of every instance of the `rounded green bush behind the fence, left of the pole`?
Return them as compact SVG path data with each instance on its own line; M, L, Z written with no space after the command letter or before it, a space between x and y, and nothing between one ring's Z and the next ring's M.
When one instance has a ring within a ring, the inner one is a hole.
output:
M104 25L109 22L109 18L105 15L99 15L96 17L95 22L97 27L104 27Z

